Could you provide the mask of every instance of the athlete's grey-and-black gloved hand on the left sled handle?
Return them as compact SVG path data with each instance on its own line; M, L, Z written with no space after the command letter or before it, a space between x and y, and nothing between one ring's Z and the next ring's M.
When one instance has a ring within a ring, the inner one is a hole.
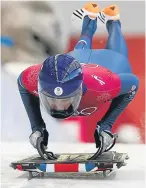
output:
M32 144L32 146L34 148L36 148L37 147L37 140L39 138L43 138L43 145L47 147L48 137L49 137L48 131L45 128L42 128L41 130L36 130L35 132L33 132L30 135L29 140L30 140L30 143Z

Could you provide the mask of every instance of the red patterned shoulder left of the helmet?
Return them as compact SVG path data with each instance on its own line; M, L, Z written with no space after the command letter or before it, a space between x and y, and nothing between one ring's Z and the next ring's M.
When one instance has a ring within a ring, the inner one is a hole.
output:
M30 93L37 93L38 76L41 66L42 64L32 65L26 68L21 74L21 82Z

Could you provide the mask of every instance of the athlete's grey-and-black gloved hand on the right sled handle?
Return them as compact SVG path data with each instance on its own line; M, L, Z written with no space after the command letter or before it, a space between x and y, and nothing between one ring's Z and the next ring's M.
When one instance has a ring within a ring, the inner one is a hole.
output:
M108 149L114 142L114 135L108 131L99 131L100 127L97 127L94 132L96 148L100 148L102 154L106 149Z

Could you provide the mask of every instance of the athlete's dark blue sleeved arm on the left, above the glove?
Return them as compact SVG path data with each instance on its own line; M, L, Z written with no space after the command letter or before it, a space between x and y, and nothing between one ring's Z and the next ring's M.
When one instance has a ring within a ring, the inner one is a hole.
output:
M35 132L36 130L41 130L42 128L45 128L45 123L42 119L41 111L40 111L40 103L39 103L39 97L31 94L24 86L22 82L22 74L18 77L18 88L19 92L23 101L23 104L25 106L27 115L30 120L31 129L32 132Z

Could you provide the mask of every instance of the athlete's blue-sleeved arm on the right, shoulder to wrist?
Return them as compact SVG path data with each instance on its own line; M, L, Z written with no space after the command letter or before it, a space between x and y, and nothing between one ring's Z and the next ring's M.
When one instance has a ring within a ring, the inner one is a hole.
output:
M119 77L121 80L121 91L119 95L112 100L107 113L104 115L101 121L97 123L97 125L100 126L100 131L111 131L116 119L126 109L137 93L139 80L135 75L123 73L120 74Z

